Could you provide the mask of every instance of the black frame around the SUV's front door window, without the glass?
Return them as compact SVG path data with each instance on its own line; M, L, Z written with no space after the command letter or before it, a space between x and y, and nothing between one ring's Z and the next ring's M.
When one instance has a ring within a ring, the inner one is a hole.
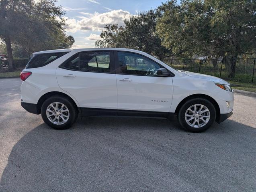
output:
M142 55L142 54L139 54L139 53L135 53L135 52L132 52L132 51L114 51L114 57L115 57L115 68L116 68L116 74L117 75L136 75L136 76L143 76L143 77L160 77L160 76L157 76L157 75L150 75L150 76L147 76L147 75L137 75L137 74L129 74L129 73L121 73L121 67L119 66L119 59L118 59L118 52L123 52L123 53L133 53L133 54L137 54L137 55L140 55L142 57L145 57L147 59L149 59L150 61L160 65L161 68L164 68L166 69L166 67L162 66L160 63L154 61L153 59L145 56L145 55ZM166 76L166 77L174 77L174 73L172 73L169 69L166 69L168 71L168 73L170 73L169 76Z

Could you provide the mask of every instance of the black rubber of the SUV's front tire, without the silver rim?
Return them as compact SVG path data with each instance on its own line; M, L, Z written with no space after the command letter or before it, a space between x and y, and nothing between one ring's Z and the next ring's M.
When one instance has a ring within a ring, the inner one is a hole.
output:
M188 109L188 107L190 107L191 105L195 105L195 104L205 105L205 107L207 107L209 109L210 115L211 115L210 120L208 121L208 123L205 126L200 127L200 128L191 127L185 121L186 110ZM184 103L182 105L182 107L180 108L179 113L178 113L178 121L179 121L180 125L186 131L190 131L190 132L205 131L206 129L208 129L213 124L215 119L216 119L216 110L215 110L214 105L210 101L208 101L207 99L203 99L203 98L195 98L195 99L190 99L189 101L186 101L186 103Z

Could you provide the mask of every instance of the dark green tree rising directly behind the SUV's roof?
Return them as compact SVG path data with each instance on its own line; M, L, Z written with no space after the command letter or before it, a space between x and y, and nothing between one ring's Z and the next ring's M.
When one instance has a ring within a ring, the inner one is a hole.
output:
M95 46L123 47L137 49L159 59L170 55L170 51L161 45L161 39L156 34L156 20L160 17L158 10L149 10L125 19L125 26L108 24L100 34L103 40L96 41Z

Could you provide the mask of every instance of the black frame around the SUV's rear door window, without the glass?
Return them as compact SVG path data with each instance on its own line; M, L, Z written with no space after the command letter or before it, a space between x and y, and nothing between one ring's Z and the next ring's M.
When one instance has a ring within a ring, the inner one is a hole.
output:
M80 55L81 53L86 53L86 52L109 52L109 69L110 71L109 72L99 72L99 71L81 71L80 70ZM79 60L78 60L78 67L79 69L76 70L76 69L70 69L70 68L67 68L67 67L64 67L64 65L70 60L71 57L73 57L74 55L78 54L78 57L79 57ZM108 73L108 74L115 74L115 61L114 61L114 53L112 50L106 50L106 51L103 51L103 50L96 50L96 51L80 51L80 52L77 52L77 53L74 53L73 55L71 55L68 59L66 59L63 63L61 63L59 65L59 68L61 69L66 69L66 70L70 70L70 71L79 71L79 72L86 72L86 73Z

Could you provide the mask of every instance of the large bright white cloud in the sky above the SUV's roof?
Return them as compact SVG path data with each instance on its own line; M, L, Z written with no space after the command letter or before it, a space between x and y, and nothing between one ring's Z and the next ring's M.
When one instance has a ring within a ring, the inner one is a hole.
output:
M128 11L124 10L111 10L105 13L95 12L94 14L81 12L82 14L88 16L81 20L67 19L66 31L76 32L78 30L82 31L101 31L104 29L106 24L118 24L124 25L123 20L129 18L131 15Z

